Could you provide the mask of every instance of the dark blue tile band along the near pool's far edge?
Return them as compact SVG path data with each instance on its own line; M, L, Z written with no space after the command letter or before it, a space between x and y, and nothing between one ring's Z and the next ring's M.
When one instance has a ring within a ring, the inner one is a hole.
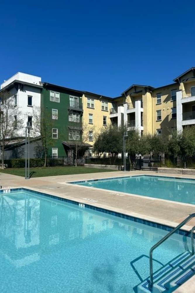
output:
M12 192L12 191L27 191L27 192L30 192L30 193L34 193L36 195L43 195L45 197L54 198L54 199L64 201L64 202L67 202L67 203L70 203L70 204L73 204L73 205L77 205L77 206L79 206L79 204L81 203L81 202L77 202L75 200L68 200L68 199L66 199L64 197L59 197L58 195L51 195L51 194L43 193L43 192L40 192L40 191L35 191L35 190L28 189L28 188L23 188L23 187L10 188L10 192ZM0 194L1 193L4 193L4 189L0 190ZM10 193L4 193L4 195L9 195L9 194ZM115 216L115 217L118 217L118 218L127 219L127 220L130 220L132 222L137 222L137 223L141 223L141 224L144 224L144 225L147 225L147 226L155 227L155 228L158 228L158 229L161 229L161 230L166 230L168 232L171 231L172 229L174 229L173 227L170 227L170 226L167 226L167 225L164 225L164 224L158 224L158 223L151 222L151 221L148 221L148 220L145 220L145 219L140 219L140 218L137 218L137 217L122 214L122 213L119 213L119 212L114 212L112 210L104 209L104 208L101 208L101 207L95 207L93 205L88 205L88 204L85 204L85 203L84 203L84 207L88 208L88 209L95 210L97 212L103 212L105 214L109 214L109 215L112 215L112 216ZM190 231L177 230L175 232L175 234L190 237ZM194 239L195 239L195 234L194 234Z

